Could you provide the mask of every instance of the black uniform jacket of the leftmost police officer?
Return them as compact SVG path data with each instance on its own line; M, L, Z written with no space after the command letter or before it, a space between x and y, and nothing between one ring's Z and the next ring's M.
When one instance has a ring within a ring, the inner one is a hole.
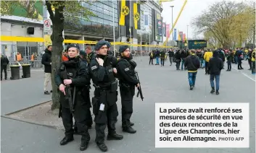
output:
M70 79L72 80L72 83L70 84L72 97L75 87L75 105L87 105L88 107L90 107L91 103L90 99L88 98L89 92L87 86L90 82L90 75L88 69L86 68L86 64L84 64L83 61L80 61L79 58L73 58L69 59L69 61L63 61L59 70L55 74L55 83L58 87L60 84L64 84L63 81L65 77L63 76L63 74L65 73L67 73L67 77L70 77ZM60 92L60 103L62 107L70 108L69 102L65 98L64 93L62 92Z

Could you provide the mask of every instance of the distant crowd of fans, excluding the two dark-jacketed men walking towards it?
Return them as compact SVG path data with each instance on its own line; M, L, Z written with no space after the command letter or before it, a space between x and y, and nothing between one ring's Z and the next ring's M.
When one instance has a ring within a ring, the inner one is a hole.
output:
M197 49L196 55L199 57L200 61L200 67L205 68L205 74L209 74L208 71L208 62L210 58L212 58L212 50L202 50ZM252 74L255 74L255 50L252 48L236 48L234 50L224 50L222 48L219 48L215 51L219 52L218 57L223 61L223 65L225 62L228 64L228 69L226 71L231 71L231 64L237 64L237 69L243 69L241 64L242 61L248 61L249 69L252 71ZM165 61L167 60L167 56L169 56L170 60L170 66L174 63L176 63L176 69L181 70L186 69L184 66L184 62L187 56L190 55L190 51L185 50L175 50L170 49L170 51L159 51L159 50L153 50L149 53L149 64L153 65L153 59L156 59L155 65L160 65L161 60L161 66L165 65Z

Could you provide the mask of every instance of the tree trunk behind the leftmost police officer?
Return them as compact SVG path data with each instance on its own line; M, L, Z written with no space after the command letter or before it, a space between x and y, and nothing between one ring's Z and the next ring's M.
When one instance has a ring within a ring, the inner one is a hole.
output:
M57 16L54 17L54 22L52 24L52 52L51 52L51 82L52 82L52 105L51 110L59 108L59 90L55 84L55 74L59 69L59 66L62 62L62 51L63 51L63 40L62 31L64 27L64 19L59 19Z

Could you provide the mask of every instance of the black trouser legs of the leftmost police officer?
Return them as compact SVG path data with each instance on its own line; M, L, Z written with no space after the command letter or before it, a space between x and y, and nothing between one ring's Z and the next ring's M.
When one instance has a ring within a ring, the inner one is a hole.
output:
M78 126L78 133L82 135L82 141L90 141L90 135L88 133L88 126L86 125L86 113L88 112L87 105L75 105L74 118ZM70 108L62 107L62 122L65 127L65 136L67 138L73 138L73 114L70 112Z

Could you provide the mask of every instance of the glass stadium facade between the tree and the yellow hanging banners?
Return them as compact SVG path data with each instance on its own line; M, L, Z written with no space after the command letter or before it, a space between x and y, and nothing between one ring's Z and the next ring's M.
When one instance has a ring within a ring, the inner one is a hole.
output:
M114 12L113 7L114 5ZM97 17L90 17L90 21L80 20L80 24L72 23L72 20L65 20L65 30L75 30L96 35L113 36L113 15L115 26L115 37L118 37L118 3L114 1L95 1L89 5L83 3Z

